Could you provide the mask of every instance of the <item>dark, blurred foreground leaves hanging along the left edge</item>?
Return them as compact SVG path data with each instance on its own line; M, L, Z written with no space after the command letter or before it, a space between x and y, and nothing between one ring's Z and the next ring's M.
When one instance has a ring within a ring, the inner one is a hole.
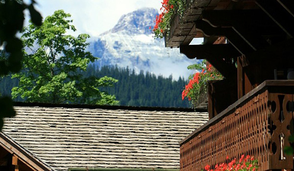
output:
M25 4L23 0L0 0L0 77L10 72L17 73L21 70L23 59L23 43L16 34L24 26L24 10L28 9L32 23L42 24L42 16L34 9L35 0ZM3 55L5 54L5 55ZM4 117L13 117L15 111L10 97L0 97L0 130Z

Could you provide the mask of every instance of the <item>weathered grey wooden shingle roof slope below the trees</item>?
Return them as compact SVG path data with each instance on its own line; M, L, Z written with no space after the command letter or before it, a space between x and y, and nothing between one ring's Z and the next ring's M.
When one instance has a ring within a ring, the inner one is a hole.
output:
M72 167L179 168L179 141L206 112L15 107L1 134L52 171Z

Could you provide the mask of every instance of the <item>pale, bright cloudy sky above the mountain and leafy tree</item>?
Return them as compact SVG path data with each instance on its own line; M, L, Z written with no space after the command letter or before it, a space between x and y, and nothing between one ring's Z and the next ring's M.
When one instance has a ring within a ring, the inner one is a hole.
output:
M25 0L27 1L27 0ZM36 0L36 9L43 17L63 9L72 14L73 25L77 32L91 37L111 29L123 14L143 7L160 9L161 0ZM154 19L155 20L155 19ZM25 22L27 24L28 21ZM72 33L71 33L72 34Z

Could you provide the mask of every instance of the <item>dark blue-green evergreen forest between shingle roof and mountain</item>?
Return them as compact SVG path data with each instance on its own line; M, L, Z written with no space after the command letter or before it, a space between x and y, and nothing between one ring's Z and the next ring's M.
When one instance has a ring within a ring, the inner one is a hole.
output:
M152 73L141 71L136 74L129 68L117 66L96 67L89 64L86 71L80 71L84 77L108 76L119 80L114 87L100 88L109 94L116 96L121 106L146 106L146 107L189 107L188 100L182 101L181 92L187 81L183 78L173 79L172 76L165 78ZM11 94L11 89L18 85L17 79L10 76L3 77L0 81L2 95ZM14 101L24 101L18 97Z

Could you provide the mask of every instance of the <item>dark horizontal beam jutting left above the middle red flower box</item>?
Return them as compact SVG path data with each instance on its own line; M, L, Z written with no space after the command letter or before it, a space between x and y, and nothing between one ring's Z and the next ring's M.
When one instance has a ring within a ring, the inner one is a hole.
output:
M232 44L181 45L180 53L189 59L236 58L240 53Z

